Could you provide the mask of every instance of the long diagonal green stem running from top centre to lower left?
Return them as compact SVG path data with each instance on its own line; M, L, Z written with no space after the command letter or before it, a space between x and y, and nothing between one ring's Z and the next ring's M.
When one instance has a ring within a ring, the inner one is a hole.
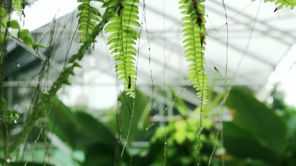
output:
M26 138L27 134L31 132L32 128L36 124L37 120L43 116L43 112L50 109L50 105L52 100L56 96L57 90L59 90L63 84L71 84L68 80L70 75L74 75L74 67L80 67L80 65L76 61L80 61L82 57L85 55L86 51L91 47L92 43L94 42L95 37L102 32L103 27L109 21L110 17L117 11L119 7L119 2L114 0L113 5L106 9L106 12L102 16L101 22L93 29L90 37L84 42L84 44L78 50L78 53L73 55L68 63L67 66L53 83L51 89L43 93L41 99L39 100L37 107L35 110L28 116L27 123L25 124L22 133L16 138L13 144L9 147L7 151L7 157L15 150L17 147L22 143L22 141Z

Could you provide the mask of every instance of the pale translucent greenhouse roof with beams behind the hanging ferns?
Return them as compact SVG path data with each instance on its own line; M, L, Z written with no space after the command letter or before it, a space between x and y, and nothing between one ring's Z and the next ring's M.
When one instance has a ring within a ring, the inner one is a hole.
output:
M222 91L224 86L227 56L227 85L246 85L254 91L268 89L271 92L277 83L286 79L290 70L293 71L296 58L292 55L295 55L296 48L291 48L296 43L296 11L284 7L274 12L274 3L263 3L262 0L226 0L226 25L222 0L204 2L208 34L204 51L206 72L210 83L216 85L216 91ZM77 26L77 11L74 10L77 5L76 0L37 0L25 8L23 28L36 33L40 43L47 45L49 34L55 26L54 41L60 39L60 42L56 42L49 85L63 68L67 47ZM100 7L99 2L94 5ZM139 22L143 21L143 29L139 45L137 86L152 96L151 78L158 87L163 87L165 81L165 86L172 86L177 92L182 91L180 96L184 100L198 105L196 92L186 86L190 82L186 78L188 63L185 61L182 43L184 37L181 19L184 16L178 9L178 0L146 0L145 5L146 22L142 20L143 3L139 5ZM87 102L92 108L108 108L115 104L118 91L114 83L115 64L104 43L108 35L99 35L94 49L88 51L89 56L81 63L83 68L77 69L76 76L72 78L73 85L66 87L69 90L63 97L65 103L71 105L77 101L84 104ZM69 57L77 52L80 46L77 41L75 34ZM9 43L8 51L11 54L22 51L23 56L18 57L19 70L13 67L15 63L11 60L7 73L9 76L20 71L20 81L9 81L8 77L6 86L27 86L46 57L46 52L41 51L40 55L36 55L33 49L20 46L16 48L15 42ZM186 89L182 90L184 87ZM119 89L122 90L123 86ZM283 89L288 88L283 86ZM156 100L157 97L162 99L161 92L156 90L154 93ZM261 94L263 97L268 95Z

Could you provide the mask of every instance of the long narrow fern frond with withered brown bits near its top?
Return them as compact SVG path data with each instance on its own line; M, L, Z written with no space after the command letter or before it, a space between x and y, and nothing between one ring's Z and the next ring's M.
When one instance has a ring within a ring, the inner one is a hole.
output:
M208 79L205 74L204 68L204 45L206 44L205 39L205 19L204 19L204 6L201 2L204 0L181 0L179 3L182 4L179 9L183 11L181 14L186 15L182 20L185 23L183 36L187 37L183 43L186 58L189 65L190 73L187 75L191 83L194 83L196 88L197 96L202 97L203 104L208 101Z

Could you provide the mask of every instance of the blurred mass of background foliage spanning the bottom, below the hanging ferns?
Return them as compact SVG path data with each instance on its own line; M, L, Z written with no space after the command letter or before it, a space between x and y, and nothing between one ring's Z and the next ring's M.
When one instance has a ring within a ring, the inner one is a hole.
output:
M189 111L185 101L178 98L172 88L170 90L175 97L174 116L166 122L165 128L162 122L152 122L152 116L158 110L150 110L150 99L136 91L128 145L122 157L133 99L121 95L117 107L105 110L103 115L95 115L87 107L69 108L56 98L50 114L40 120L26 144L20 147L13 160L16 162L10 162L10 165L24 165L28 161L27 165L34 166L45 163L161 166L166 133L167 166L194 166L198 161L199 132L201 165L207 165L216 142L222 95L210 93L211 100L203 107L200 128L201 108ZM257 100L244 87L231 89L224 112L229 118L223 118L212 166L221 166L222 162L225 166L296 166L296 108L286 105L277 92L273 93L273 99L273 103L267 104ZM10 137L17 137L18 124L12 123L8 127ZM37 142L36 138L39 138ZM144 146L135 144L139 142L146 143Z

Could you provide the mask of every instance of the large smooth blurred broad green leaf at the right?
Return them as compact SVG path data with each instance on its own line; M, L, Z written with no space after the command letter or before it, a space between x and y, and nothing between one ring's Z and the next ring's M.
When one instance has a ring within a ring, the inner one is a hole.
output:
M284 150L287 143L287 124L251 92L233 87L226 106L234 112L234 125L249 133L261 146L277 153Z

